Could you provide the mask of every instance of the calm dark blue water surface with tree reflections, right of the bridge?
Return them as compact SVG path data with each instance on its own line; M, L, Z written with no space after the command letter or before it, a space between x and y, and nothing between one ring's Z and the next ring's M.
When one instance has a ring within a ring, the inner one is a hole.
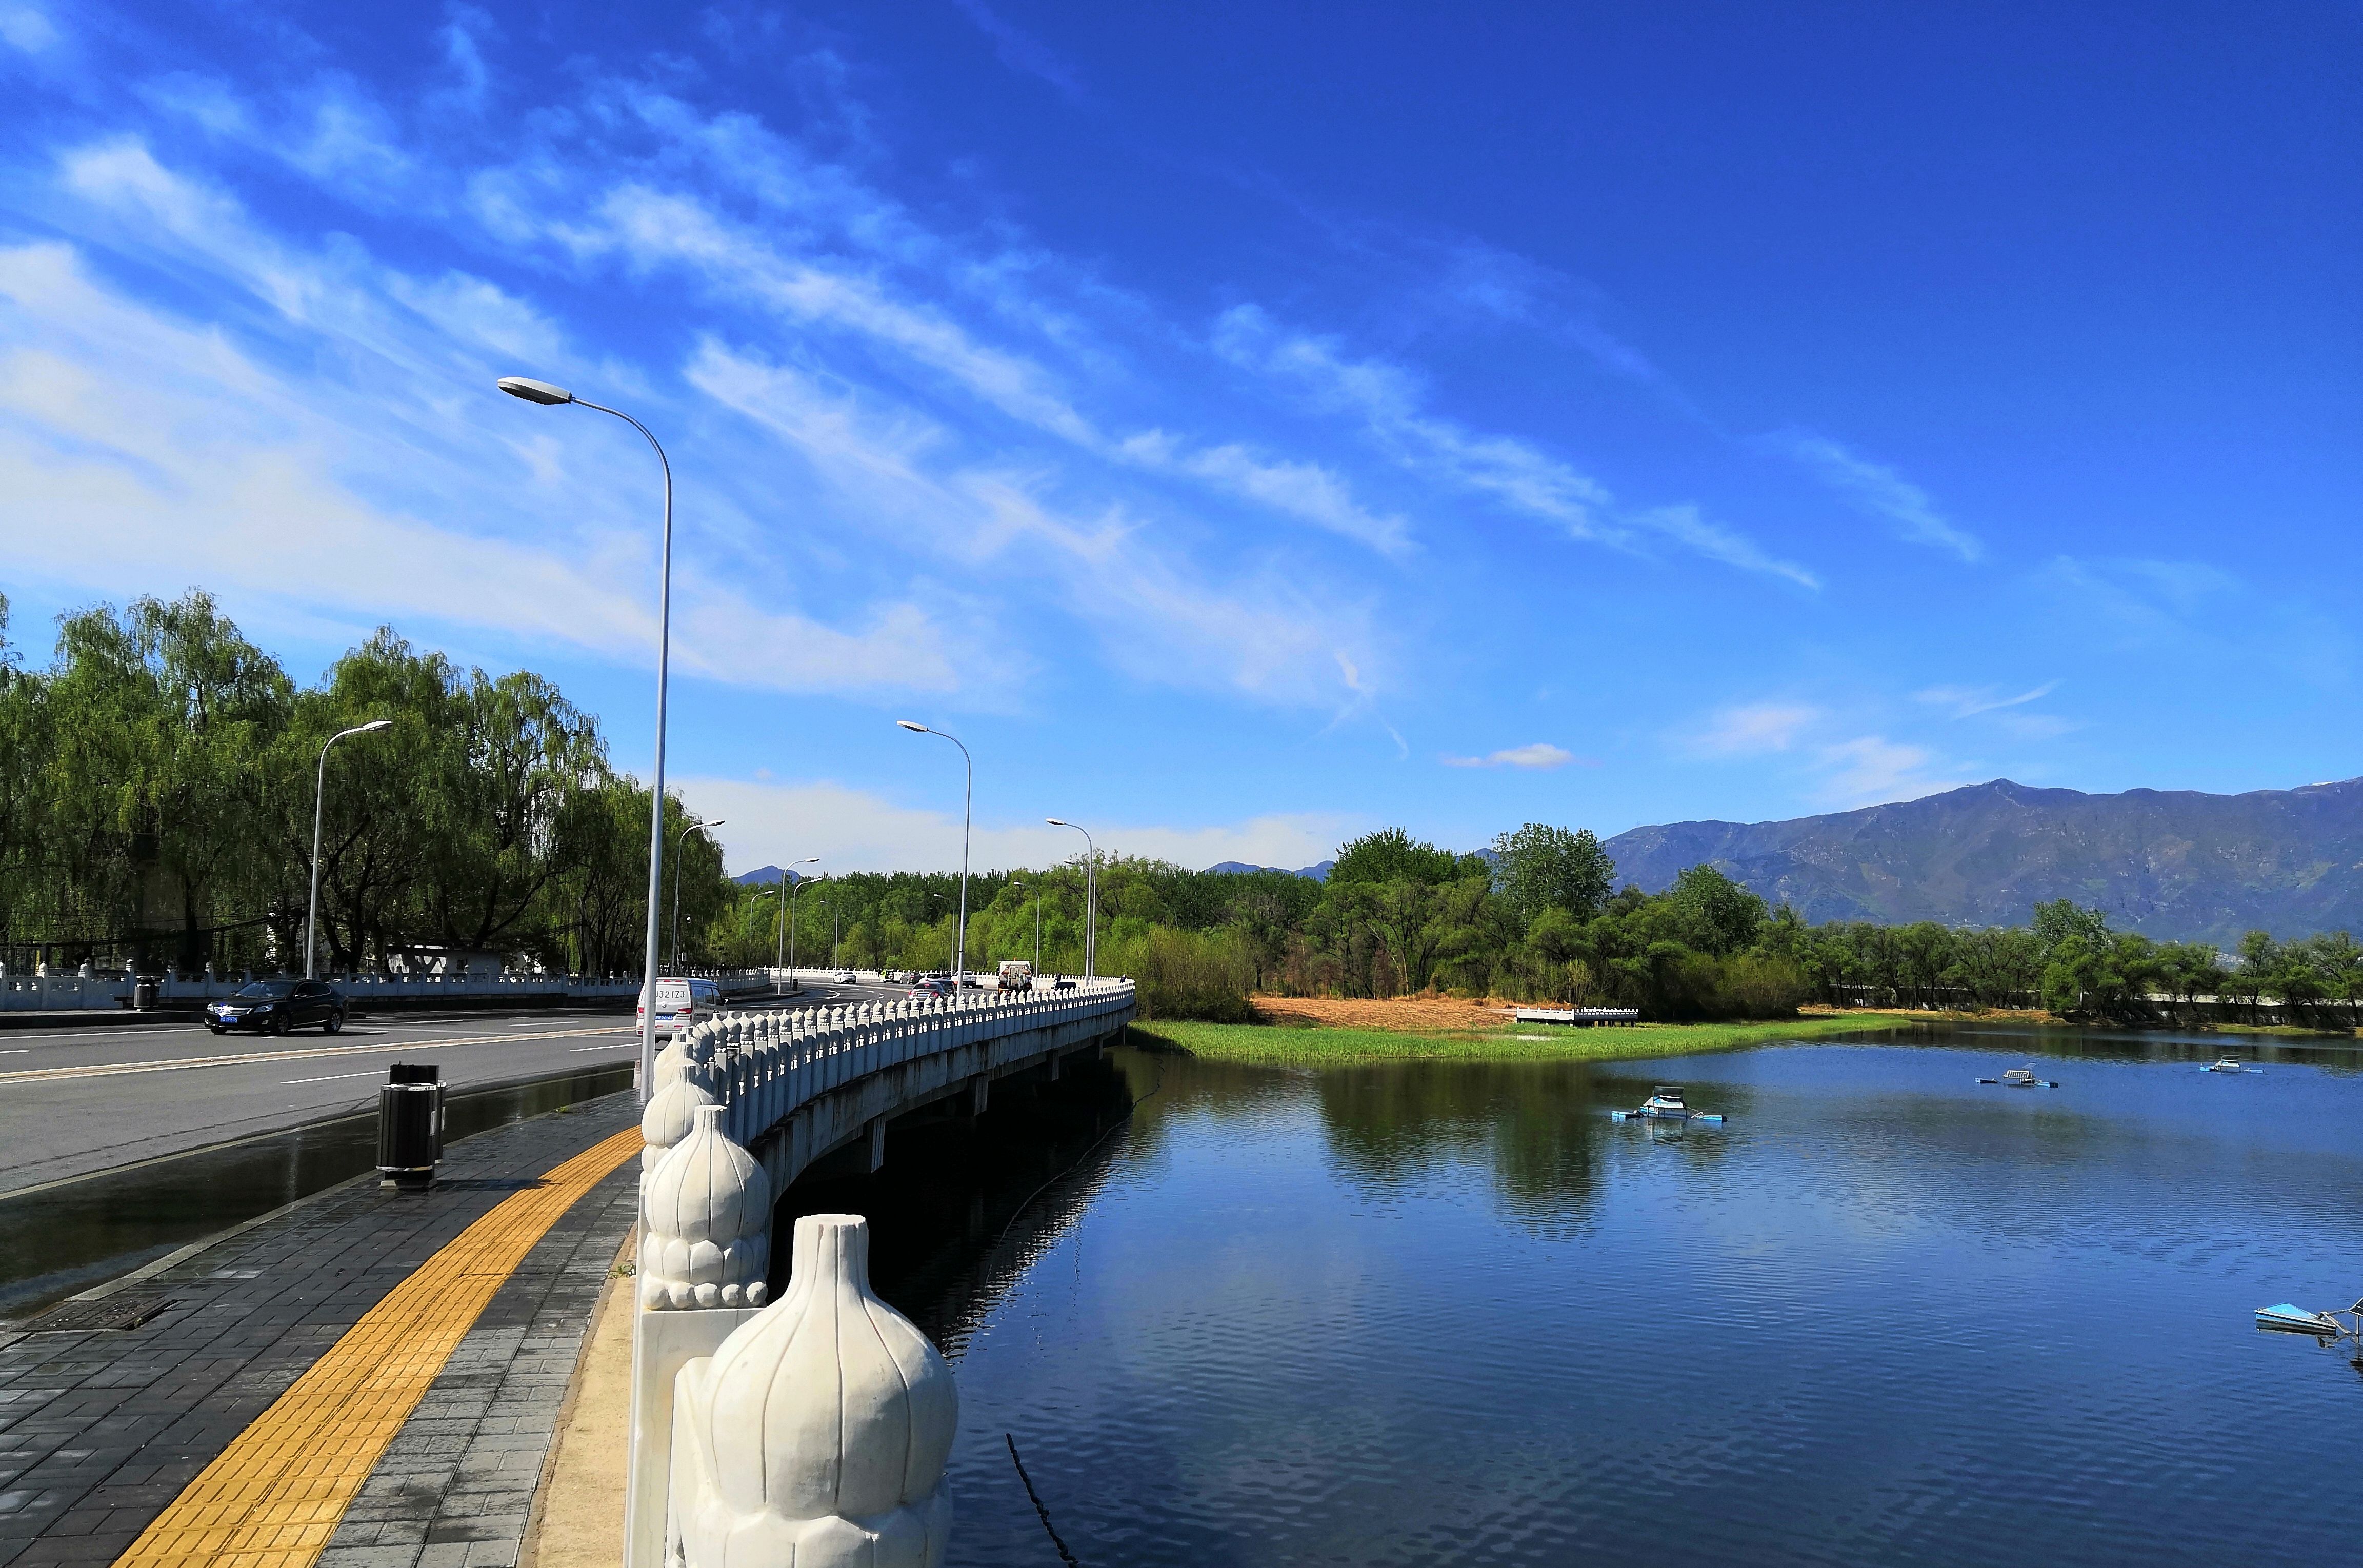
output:
M1092 1568L2358 1561L2351 1348L2250 1315L2363 1294L2363 1058L2219 1048L1122 1053L957 1339L952 1561L1056 1563L1002 1433Z

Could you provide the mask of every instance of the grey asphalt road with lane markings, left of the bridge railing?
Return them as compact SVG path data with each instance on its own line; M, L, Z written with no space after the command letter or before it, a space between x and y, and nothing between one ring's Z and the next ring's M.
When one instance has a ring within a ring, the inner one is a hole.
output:
M787 1006L900 997L806 985ZM777 1006L749 999L754 1006ZM357 1018L343 1034L213 1034L203 1025L0 1032L0 1197L376 1105L385 1067L501 1084L629 1063L629 1013Z

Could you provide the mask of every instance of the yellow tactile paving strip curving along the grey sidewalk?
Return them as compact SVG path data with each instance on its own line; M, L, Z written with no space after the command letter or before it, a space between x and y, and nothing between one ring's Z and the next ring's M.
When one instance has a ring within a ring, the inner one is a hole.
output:
M461 1230L255 1417L116 1568L310 1568L501 1282L638 1152L640 1129L619 1131Z

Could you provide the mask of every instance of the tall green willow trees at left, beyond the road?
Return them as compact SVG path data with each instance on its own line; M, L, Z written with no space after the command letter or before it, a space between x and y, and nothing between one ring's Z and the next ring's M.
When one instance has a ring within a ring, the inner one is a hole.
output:
M61 616L45 668L0 597L0 959L300 968L319 751L380 718L328 753L324 971L640 971L650 796L551 680L380 628L298 685L196 590ZM735 904L702 831L671 867L688 930Z

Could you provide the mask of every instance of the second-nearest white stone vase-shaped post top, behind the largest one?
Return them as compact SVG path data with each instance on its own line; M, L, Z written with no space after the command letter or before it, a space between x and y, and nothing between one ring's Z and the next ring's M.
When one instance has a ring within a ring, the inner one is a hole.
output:
M763 1306L770 1176L754 1155L723 1136L721 1105L699 1105L690 1136L640 1181L640 1214L647 1221L640 1249L643 1306Z

